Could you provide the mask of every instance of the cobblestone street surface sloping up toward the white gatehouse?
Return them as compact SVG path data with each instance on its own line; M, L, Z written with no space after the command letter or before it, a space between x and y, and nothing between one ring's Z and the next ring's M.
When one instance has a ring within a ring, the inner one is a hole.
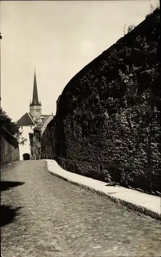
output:
M45 161L1 173L4 257L160 256L159 221L52 176Z

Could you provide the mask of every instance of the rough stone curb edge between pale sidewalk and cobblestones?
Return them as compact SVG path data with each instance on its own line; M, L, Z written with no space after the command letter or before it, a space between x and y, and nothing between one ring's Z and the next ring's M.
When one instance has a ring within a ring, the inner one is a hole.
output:
M91 188L91 187L89 187L89 186L86 186L86 185L84 185L84 184L82 184L82 183L75 182L75 181L73 181L73 180L71 180L71 179L69 179L69 178L63 177L63 176L61 176L61 175L59 175L59 174L57 174L57 173L55 173L55 172L53 172L53 171L50 171L49 166L48 166L48 161L46 160L46 162L47 162L47 169L48 169L48 172L49 172L51 175L54 175L54 176L56 176L56 177L58 177L58 178L61 178L61 179L65 180L65 181L68 181L69 183L72 183L72 184L74 184L74 185L76 185L76 186L79 186L79 187L81 187L81 188L84 188L84 189L86 189L86 190L88 190L88 191L91 191L91 192L93 192L93 193L96 193L96 194L98 194L98 195L101 195L101 196L103 196L103 197L106 197L106 198L110 199L111 201L113 201L113 202L116 203L116 204L122 205L122 206L124 206L124 207L126 207L126 208L128 208L128 209L134 210L134 211L136 211L136 212L138 212L138 213L144 214L144 215L146 215L146 216L150 216L151 218L154 218L154 219L157 219L158 221L161 221L161 215L160 215L159 213L154 212L154 211L152 211L152 210L149 210L148 208L145 208L145 207L143 207L143 206L139 206L139 205L135 205L135 204L129 203L129 202L126 201L126 200L122 200L122 199L116 198L116 197L111 196L110 194L107 194L107 193L105 193L105 192L103 192L103 191L101 191L101 190L96 190L96 189ZM58 164L58 163L57 163L57 164ZM58 164L58 165L59 165L59 164ZM59 167L61 167L61 166L59 166ZM62 167L61 167L61 168L62 168ZM63 168L62 168L62 169L63 169Z

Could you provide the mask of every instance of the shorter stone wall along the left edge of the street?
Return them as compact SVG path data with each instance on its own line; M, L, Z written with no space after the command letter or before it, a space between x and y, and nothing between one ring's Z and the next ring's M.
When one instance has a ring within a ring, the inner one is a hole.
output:
M19 160L18 141L1 127L1 166Z

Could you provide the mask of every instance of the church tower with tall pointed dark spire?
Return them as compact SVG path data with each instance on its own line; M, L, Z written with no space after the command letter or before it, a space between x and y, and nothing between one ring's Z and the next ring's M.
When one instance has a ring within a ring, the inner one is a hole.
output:
M34 81L33 81L33 98L32 98L32 103L30 102L30 113L36 120L42 116L42 105L41 105L41 102L38 102L35 69L34 69Z

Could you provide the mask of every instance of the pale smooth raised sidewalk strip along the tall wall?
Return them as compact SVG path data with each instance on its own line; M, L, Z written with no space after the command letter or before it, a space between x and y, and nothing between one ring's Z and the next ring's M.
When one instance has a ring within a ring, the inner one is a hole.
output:
M55 160L47 161L48 171L59 178L100 194L129 209L161 220L161 198L121 186L107 187L108 183L64 170Z

